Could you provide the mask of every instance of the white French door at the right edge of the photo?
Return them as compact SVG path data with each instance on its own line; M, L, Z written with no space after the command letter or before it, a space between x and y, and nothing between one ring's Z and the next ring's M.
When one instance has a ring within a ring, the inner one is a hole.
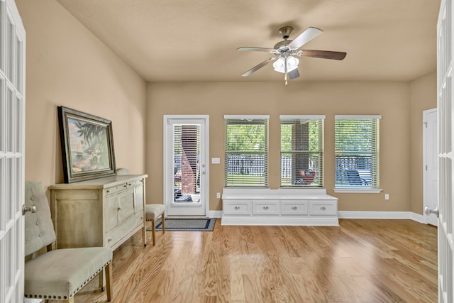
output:
M437 24L438 302L454 302L453 8L442 0Z

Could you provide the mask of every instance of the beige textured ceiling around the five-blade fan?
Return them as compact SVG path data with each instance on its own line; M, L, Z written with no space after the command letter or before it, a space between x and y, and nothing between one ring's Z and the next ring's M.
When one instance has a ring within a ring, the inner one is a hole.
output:
M343 61L301 57L301 80L409 81L436 70L440 0L57 0L148 81L283 81L262 67L279 28L301 49L344 51Z

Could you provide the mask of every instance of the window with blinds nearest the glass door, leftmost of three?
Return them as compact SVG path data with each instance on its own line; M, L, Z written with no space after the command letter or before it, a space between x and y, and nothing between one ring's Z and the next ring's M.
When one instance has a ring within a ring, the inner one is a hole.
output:
M224 116L226 187L267 187L269 116Z

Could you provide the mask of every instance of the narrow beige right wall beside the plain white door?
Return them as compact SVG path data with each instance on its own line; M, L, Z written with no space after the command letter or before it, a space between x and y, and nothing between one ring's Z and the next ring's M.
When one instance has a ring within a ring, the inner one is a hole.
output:
M423 214L423 111L437 107L436 72L410 83L410 99L411 211Z

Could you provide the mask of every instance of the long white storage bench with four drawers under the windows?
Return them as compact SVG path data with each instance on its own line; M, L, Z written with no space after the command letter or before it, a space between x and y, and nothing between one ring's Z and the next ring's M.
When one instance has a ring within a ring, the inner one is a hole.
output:
M338 198L326 189L224 188L221 225L338 226Z

